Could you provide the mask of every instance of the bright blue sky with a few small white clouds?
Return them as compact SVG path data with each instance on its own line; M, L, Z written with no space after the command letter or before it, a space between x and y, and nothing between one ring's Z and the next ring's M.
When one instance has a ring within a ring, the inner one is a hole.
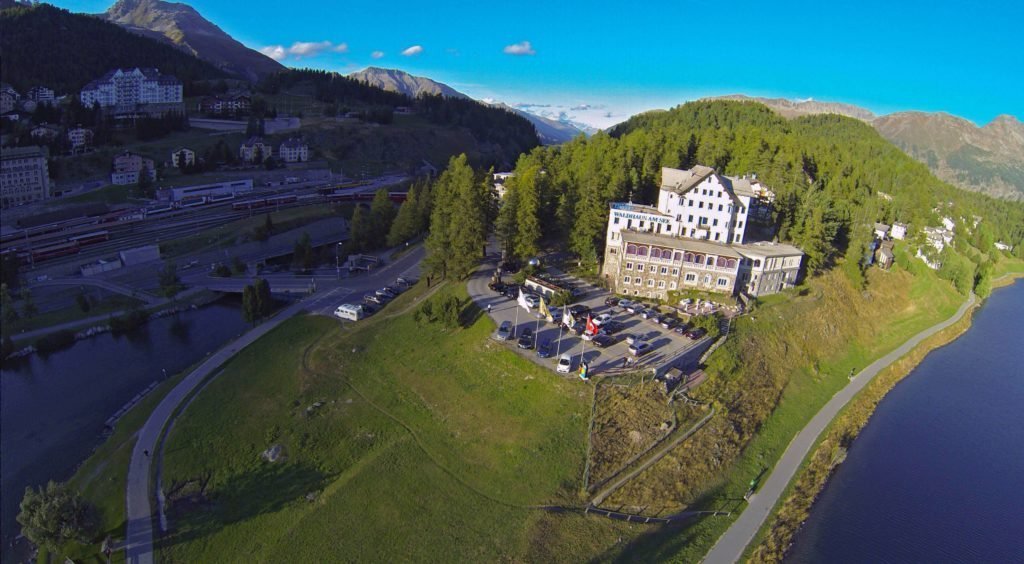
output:
M288 66L397 68L601 127L729 93L1024 120L1019 1L188 3Z

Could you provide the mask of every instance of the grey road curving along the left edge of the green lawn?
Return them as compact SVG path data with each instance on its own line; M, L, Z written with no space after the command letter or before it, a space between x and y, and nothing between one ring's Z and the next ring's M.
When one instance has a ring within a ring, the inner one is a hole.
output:
M126 559L133 564L150 564L154 561L153 552L153 507L151 498L151 476L153 475L152 458L150 453L157 452L164 429L168 428L178 406L188 398L194 390L200 388L231 356L251 345L257 339L266 335L272 329L300 311L331 314L338 304L350 295L361 296L387 285L397 276L416 276L419 263L423 259L423 248L417 248L407 253L396 261L366 275L347 278L345 286L326 289L300 300L280 311L276 315L255 327L234 342L226 345L212 354L205 362L189 373L160 401L150 415L150 418L139 429L135 448L132 450L128 465L128 479L125 491L126 525L125 550Z

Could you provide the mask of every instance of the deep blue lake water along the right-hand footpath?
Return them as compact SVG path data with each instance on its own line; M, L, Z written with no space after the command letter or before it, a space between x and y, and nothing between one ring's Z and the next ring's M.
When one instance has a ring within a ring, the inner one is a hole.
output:
M879 404L792 563L1024 561L1024 280Z

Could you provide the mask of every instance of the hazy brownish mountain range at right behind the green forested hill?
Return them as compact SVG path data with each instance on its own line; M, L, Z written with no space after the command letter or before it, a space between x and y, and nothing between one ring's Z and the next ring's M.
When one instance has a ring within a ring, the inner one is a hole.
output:
M999 116L978 127L944 113L876 116L856 105L733 94L712 99L756 101L786 118L840 114L871 124L886 139L954 186L996 198L1024 200L1024 125Z

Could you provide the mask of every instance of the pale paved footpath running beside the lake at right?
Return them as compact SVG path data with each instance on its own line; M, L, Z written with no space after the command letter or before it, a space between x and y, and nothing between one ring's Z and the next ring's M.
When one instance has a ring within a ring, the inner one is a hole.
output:
M857 395L886 366L921 344L922 341L955 323L967 311L977 303L977 297L972 292L952 317L934 324L914 335L889 354L871 362L866 368L855 376L849 384L836 393L827 403L818 410L810 422L794 437L786 447L778 464L772 469L771 475L759 492L751 496L746 509L739 515L729 529L718 539L715 547L703 558L708 564L732 564L739 561L746 550L746 545L761 529L765 519L771 514L778 498L782 495L790 480L800 469L801 463L807 457L811 447L825 428L839 415L840 410Z

